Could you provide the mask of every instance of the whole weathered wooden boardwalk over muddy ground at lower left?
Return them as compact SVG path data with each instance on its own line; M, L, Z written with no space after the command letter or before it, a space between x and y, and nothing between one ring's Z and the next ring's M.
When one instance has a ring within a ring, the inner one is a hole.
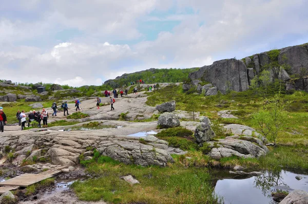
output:
M19 187L27 187L33 183L39 182L46 178L60 174L59 170L48 170L39 174L22 174L6 181L0 182L0 195L4 192L18 189Z

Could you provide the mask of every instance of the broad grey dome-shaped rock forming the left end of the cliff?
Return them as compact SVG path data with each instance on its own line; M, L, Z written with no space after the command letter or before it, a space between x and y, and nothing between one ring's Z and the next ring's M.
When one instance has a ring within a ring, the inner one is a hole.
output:
M189 73L189 78L209 81L219 91L245 91L249 88L247 69L241 60L223 59Z

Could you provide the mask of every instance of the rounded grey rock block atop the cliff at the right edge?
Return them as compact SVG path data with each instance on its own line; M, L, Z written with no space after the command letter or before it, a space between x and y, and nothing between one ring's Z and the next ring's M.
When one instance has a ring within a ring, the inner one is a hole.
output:
M300 74L301 68L308 69L308 50L303 46L282 48L278 62L280 65L290 65L292 74Z

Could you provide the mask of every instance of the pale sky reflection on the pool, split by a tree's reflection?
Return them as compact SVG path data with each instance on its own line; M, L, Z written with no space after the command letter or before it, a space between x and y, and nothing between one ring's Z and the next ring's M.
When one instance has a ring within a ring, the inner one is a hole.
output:
M297 180L295 176L300 175L303 178ZM281 172L282 181L292 189L299 189L308 191L308 175L295 174L287 171ZM306 177L306 178L304 178ZM247 179L223 179L218 180L215 193L224 198L225 204L260 204L260 203L273 203L272 197L263 195L261 189L255 188L255 177Z

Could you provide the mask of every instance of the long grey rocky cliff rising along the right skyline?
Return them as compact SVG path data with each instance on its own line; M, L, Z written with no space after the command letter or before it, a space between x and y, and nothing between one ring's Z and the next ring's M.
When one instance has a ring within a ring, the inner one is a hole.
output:
M283 67L288 69L285 71ZM192 81L207 81L222 93L226 93L227 90L245 91L249 88L251 80L264 69L270 71L273 81L275 78L285 81L286 90L308 91L305 77L308 75L308 43L262 52L242 60L219 60L213 65L189 73L189 78ZM289 74L295 77L292 79Z

